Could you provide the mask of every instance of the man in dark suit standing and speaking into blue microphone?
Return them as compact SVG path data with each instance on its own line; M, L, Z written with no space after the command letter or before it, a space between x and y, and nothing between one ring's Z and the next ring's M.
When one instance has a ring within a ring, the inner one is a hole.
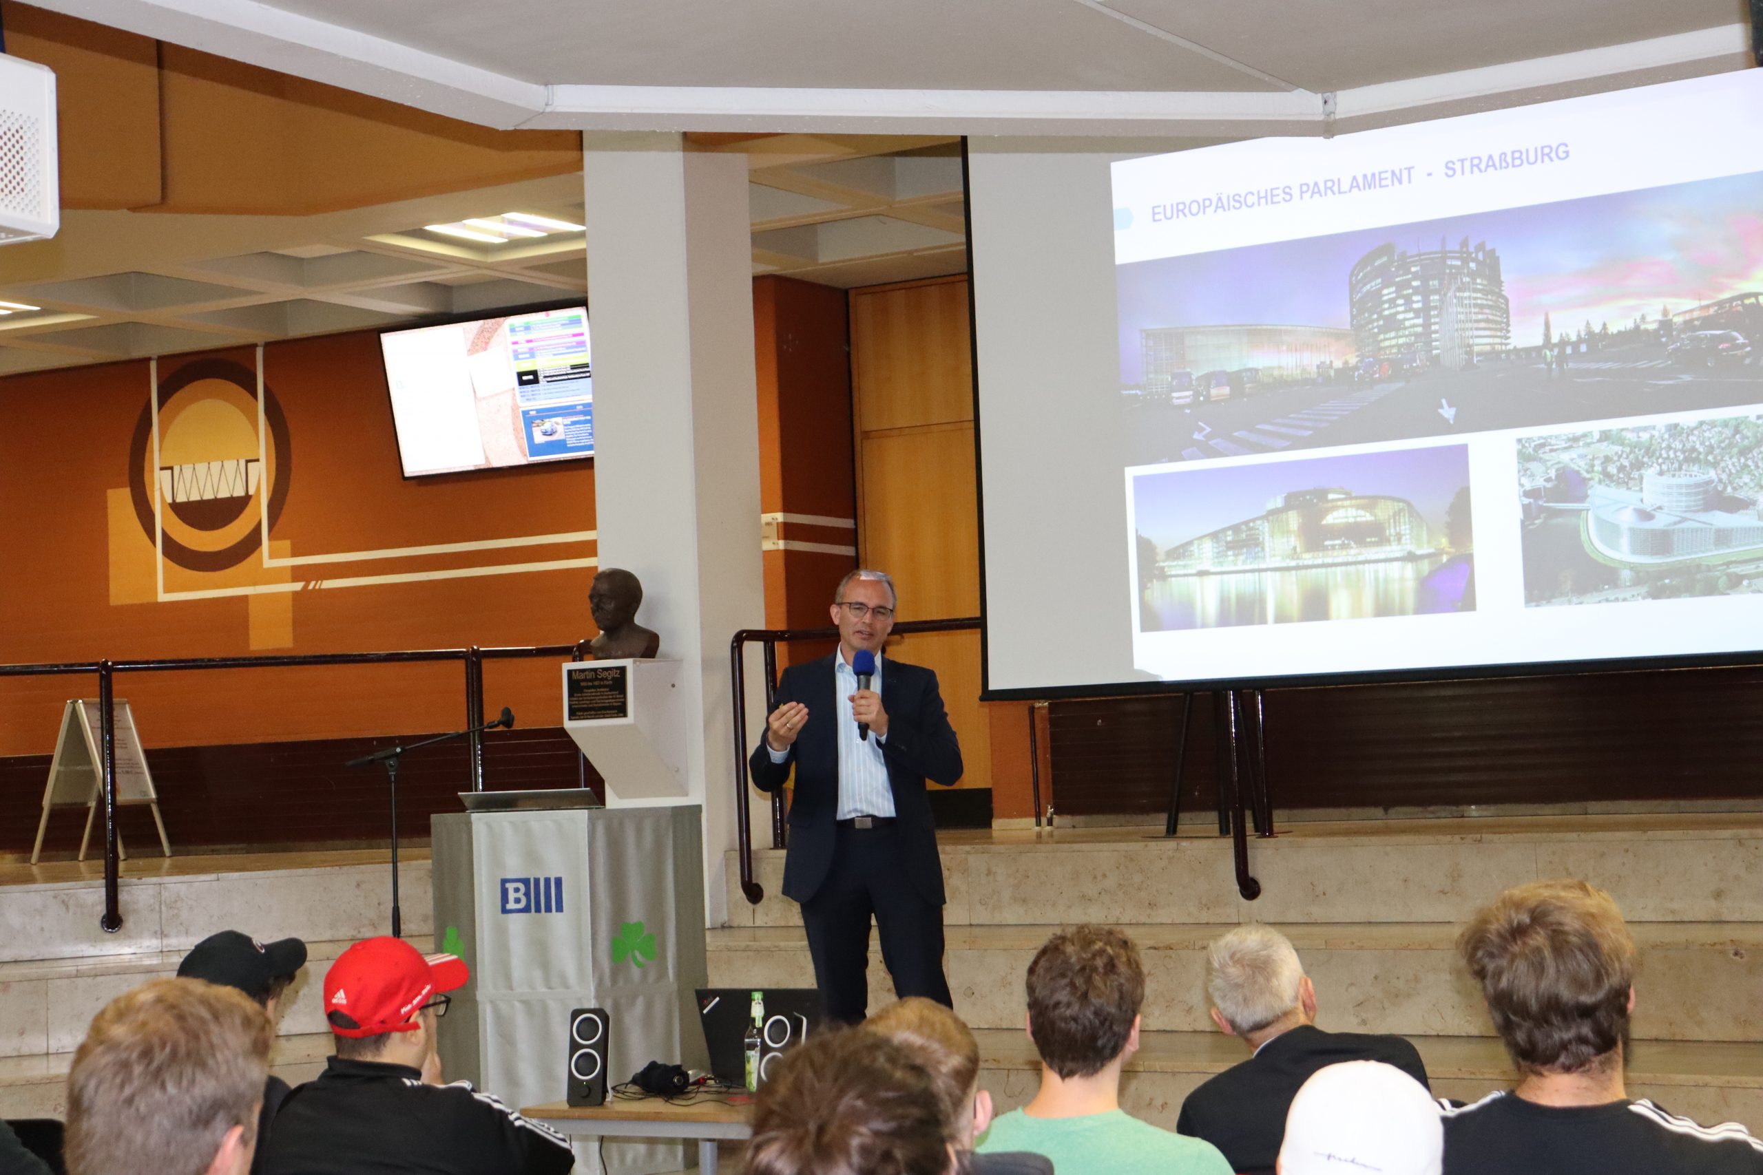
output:
M961 743L936 675L882 662L897 597L880 571L834 592L839 648L790 666L753 752L753 782L777 791L795 766L783 891L802 904L815 983L827 1015L859 1024L869 1008L869 920L901 995L950 1004L943 978L943 863L924 780L961 779ZM874 655L867 689L853 662ZM883 703L885 698L885 703Z

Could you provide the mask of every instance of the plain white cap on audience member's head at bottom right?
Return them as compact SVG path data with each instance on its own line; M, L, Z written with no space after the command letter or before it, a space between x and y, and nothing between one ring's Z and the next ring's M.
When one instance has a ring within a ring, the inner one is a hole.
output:
M1382 1060L1317 1069L1292 1097L1280 1175L1439 1175L1439 1105L1412 1076Z

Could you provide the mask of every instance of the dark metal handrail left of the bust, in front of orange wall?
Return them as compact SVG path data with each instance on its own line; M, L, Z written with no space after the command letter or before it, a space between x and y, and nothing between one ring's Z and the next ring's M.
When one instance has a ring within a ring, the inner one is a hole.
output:
M582 661L587 639L575 645L508 645L494 648L421 648L374 654L264 654L252 657L162 657L152 661L60 661L42 664L0 664L4 676L65 676L95 673L99 678L99 743L102 747L104 793L104 914L99 925L106 934L122 930L120 874L122 854L116 840L116 675L118 673L183 673L196 669L286 669L294 666L347 666L347 664L421 664L458 661L465 668L465 726L469 780L472 791L483 791L483 662L513 661L518 657L569 657Z

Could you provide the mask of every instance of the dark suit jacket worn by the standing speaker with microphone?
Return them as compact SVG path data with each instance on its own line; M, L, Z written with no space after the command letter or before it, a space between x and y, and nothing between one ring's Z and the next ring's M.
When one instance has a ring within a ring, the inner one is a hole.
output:
M795 766L795 798L790 802L790 851L783 863L783 891L806 902L820 890L832 868L834 821L839 809L839 736L837 696L832 692L832 661L790 666L777 682L777 703L800 701L807 706L807 726L790 743L790 757L770 761L765 738L749 763L753 784L760 791L777 791ZM936 856L936 821L924 780L952 786L961 779L961 743L948 726L936 675L920 666L885 657L882 661L882 708L887 710L887 742L882 757L894 787L896 831L901 844L901 870L924 898L943 904L943 865Z

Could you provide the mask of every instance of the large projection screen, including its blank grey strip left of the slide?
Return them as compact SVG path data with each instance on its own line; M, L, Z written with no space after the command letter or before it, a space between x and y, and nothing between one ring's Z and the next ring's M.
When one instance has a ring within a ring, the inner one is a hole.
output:
M991 698L1763 647L1763 76L971 139Z

